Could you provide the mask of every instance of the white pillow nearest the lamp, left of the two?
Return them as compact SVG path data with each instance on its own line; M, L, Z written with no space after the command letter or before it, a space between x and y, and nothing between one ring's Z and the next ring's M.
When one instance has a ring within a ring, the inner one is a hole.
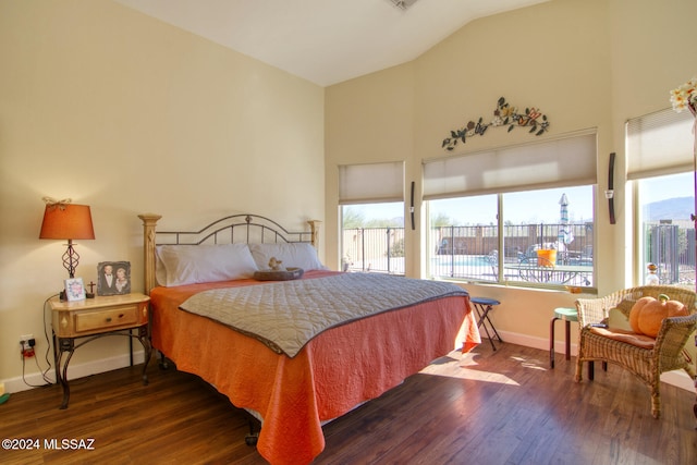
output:
M247 244L159 245L156 253L156 278L168 287L252 278L258 271Z

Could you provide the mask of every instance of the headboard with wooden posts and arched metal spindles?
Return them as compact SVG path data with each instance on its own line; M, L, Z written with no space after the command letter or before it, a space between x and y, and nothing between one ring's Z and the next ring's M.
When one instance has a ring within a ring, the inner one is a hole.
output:
M138 215L143 221L143 250L145 258L145 293L157 285L155 279L155 247L157 245L201 245L232 243L309 243L319 249L319 220L309 220L309 231L288 231L273 220L257 215L233 215L221 218L198 231L157 231L160 215Z

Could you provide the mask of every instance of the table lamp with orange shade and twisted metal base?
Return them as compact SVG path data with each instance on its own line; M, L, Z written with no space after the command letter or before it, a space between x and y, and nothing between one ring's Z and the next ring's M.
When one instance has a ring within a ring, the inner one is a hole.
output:
M44 200L46 211L39 238L68 240L68 250L63 254L63 267L68 270L70 278L75 278L80 255L73 247L73 240L95 238L89 207L70 204L70 199L50 201L45 198Z

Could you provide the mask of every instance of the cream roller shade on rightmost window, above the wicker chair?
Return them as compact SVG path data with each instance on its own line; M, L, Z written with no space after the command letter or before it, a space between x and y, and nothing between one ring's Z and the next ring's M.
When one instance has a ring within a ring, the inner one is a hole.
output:
M671 108L627 121L627 179L692 171L694 122Z

